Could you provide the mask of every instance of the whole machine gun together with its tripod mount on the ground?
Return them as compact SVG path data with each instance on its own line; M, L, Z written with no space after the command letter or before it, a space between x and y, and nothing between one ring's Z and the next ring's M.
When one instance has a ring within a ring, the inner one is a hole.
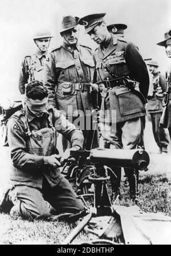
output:
M97 148L85 152L71 151L71 159L68 161L71 161L72 164L74 161L76 162L75 170L77 170L77 172L80 171L80 174L82 174L84 170L84 168L81 169L82 166L91 166L90 170L92 170L92 172L88 173L88 180L89 182L91 182L91 184L94 185L95 188L93 191L92 208L89 208L86 201L84 200L84 198L88 195L83 194L80 196L86 206L84 212L80 213L80 216L83 217L86 215L86 217L83 218L80 224L75 227L72 233L63 241L62 244L70 244L80 233L80 231L82 231L83 228L88 224L88 222L91 221L92 217L100 216L110 216L110 220L108 221L109 225L107 225L107 228L105 225L105 228L100 230L100 234L92 231L91 229L87 229L87 231L96 234L100 238L98 239L99 242L105 241L108 243L112 243L114 237L119 237L119 241L124 243L120 216L115 212L114 209L117 198L112 205L108 194L107 181L110 178L110 176L108 175L108 170L110 170L110 168L108 166L112 165L146 170L149 164L148 153L145 152L143 149L124 150ZM80 177L78 176L78 178ZM71 216L71 219L72 218L74 218L74 216Z

